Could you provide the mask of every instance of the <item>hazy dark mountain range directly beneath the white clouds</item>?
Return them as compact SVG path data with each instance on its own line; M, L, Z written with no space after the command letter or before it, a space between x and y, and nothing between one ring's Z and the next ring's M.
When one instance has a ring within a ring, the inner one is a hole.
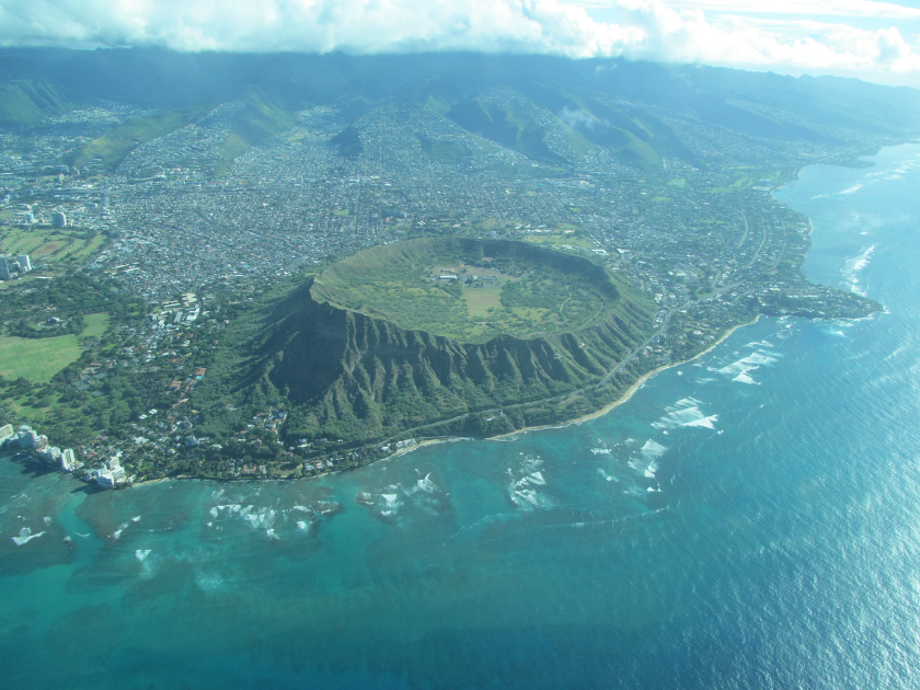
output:
M767 140L820 142L833 141L848 131L905 136L920 129L920 91L913 89L622 59L462 53L363 57L159 49L0 50L0 83L23 80L49 84L60 94L60 103L91 104L104 99L163 110L227 102L255 90L288 112L307 104L338 105L345 125L372 104L430 97L455 108L453 116L464 126L487 131L484 136L514 143L519 150L533 151L538 158L548 156L539 127L534 135L528 118L508 108L497 112L480 106L482 113L478 112L474 104L482 94L511 90L557 117L564 108L579 105L605 123L601 128L579 130L589 140L616 147L631 143L635 137L659 156L679 157L680 151L669 150L677 146L674 137L645 106ZM26 95L38 111L47 112L37 94ZM20 94L8 102L13 119L35 116ZM629 112L631 106L623 103L645 110ZM598 104L619 114L601 113ZM651 139L636 131L636 124Z

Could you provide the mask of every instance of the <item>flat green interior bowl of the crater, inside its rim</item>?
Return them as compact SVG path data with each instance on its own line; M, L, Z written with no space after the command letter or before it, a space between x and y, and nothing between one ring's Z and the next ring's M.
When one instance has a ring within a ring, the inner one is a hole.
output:
M576 331L613 313L620 301L618 279L587 257L461 238L365 250L324 271L312 294L464 343Z

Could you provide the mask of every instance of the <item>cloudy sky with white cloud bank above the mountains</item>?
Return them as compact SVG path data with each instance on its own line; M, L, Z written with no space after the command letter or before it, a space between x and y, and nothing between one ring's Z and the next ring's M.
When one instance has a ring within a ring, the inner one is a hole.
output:
M920 0L0 0L0 46L534 53L920 88Z

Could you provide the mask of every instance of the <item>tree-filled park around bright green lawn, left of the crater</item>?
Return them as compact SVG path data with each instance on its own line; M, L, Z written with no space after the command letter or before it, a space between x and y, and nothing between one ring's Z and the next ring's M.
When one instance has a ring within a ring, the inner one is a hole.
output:
M129 421L162 389L118 366L129 355L113 323L127 327L146 314L139 298L81 275L22 280L8 288L0 300L0 322L5 324L5 335L0 335L0 406L42 423L45 433L66 445ZM80 375L96 359L113 366L87 377L96 384L91 388Z

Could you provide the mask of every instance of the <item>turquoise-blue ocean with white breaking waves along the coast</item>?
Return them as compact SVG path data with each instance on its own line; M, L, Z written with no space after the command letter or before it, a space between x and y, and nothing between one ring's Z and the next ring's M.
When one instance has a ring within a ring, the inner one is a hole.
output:
M312 482L0 461L0 686L920 687L920 146L874 161L778 196L886 313L762 320L589 423Z

